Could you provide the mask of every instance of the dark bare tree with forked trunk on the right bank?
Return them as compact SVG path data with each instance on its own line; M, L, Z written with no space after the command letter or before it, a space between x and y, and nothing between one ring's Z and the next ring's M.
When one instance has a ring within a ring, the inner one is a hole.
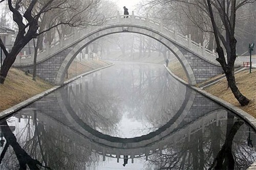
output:
M255 1L245 0L245 1L236 1L236 0L227 0L227 1L210 1L207 0L207 3L204 2L204 5L207 9L207 13L211 19L212 29L214 31L218 58L216 59L222 66L223 71L226 75L228 85L234 94L235 98L241 104L245 106L249 103L249 100L240 92L236 85L236 80L234 78L234 61L237 58L236 44L237 40L234 37L234 31L236 26L236 11L240 7L244 6L247 3L252 3ZM216 10L214 11L213 8ZM218 15L216 13L218 11ZM221 34L221 29L217 27L216 17L220 17L223 27L225 28L225 34ZM221 44L221 42L222 44ZM225 59L223 47L226 50L227 60Z

